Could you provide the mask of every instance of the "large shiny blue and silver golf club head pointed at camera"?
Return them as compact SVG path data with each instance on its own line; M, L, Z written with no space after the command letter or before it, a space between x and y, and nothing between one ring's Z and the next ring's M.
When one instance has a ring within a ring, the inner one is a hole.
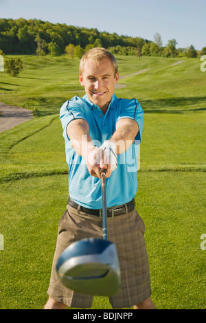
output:
M62 285L91 296L114 296L120 287L120 267L115 244L86 238L69 245L56 263Z

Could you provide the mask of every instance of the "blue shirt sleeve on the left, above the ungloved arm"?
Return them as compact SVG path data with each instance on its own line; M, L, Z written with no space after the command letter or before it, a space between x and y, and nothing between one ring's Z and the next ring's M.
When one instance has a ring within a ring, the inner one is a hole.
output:
M85 112L84 107L78 97L74 97L71 100L67 100L60 109L60 121L62 123L63 136L69 140L67 135L67 126L69 122L76 119L84 119Z

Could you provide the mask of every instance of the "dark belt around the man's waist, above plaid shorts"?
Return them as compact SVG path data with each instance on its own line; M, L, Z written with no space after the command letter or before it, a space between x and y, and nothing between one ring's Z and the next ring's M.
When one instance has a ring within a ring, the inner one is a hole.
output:
M80 206L75 201L73 201L73 199L71 199L70 197L67 201L67 204L69 204L72 208L75 208L76 210ZM135 208L135 199L132 199L132 201L130 201L128 203L114 206L113 208L107 208L106 209L107 217L113 218L114 216L125 214L126 208L127 208L128 212L133 211ZM88 208L84 208L84 206L80 206L80 211L82 211L84 213L91 214L91 215L96 215L96 216L102 217L102 209L88 209Z

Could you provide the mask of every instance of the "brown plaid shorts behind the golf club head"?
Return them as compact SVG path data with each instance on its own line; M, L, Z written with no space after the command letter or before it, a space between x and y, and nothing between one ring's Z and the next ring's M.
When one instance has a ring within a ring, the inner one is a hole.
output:
M144 221L137 211L107 219L108 240L115 243L121 269L121 287L109 298L113 309L133 307L150 297L150 272L144 241ZM58 225L56 252L49 284L49 297L68 307L88 309L93 296L82 295L64 287L56 274L56 261L71 243L83 238L102 238L102 219L67 205Z

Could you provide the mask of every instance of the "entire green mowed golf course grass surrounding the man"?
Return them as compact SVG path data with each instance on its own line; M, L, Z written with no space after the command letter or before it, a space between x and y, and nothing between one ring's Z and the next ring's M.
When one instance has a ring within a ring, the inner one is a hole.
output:
M0 78L0 100L37 109L38 117L0 133L0 309L43 309L68 196L58 113L84 91L78 59L20 57L19 77ZM119 80L126 87L115 94L137 98L145 112L136 204L146 224L152 300L158 309L206 309L206 72L198 58L117 59L120 76L148 69ZM92 308L112 309L101 297Z

